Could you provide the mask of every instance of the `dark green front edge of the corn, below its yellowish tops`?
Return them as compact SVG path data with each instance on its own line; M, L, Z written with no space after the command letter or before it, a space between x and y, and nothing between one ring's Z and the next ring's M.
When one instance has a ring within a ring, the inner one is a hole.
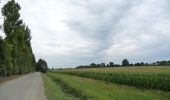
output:
M170 91L170 73L129 73L103 71L59 71L58 73L77 75L86 78L109 81L122 85L135 86L144 89Z

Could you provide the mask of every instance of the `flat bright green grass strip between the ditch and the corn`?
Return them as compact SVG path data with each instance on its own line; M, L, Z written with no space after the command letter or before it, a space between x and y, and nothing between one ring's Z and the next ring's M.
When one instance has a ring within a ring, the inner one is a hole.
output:
M57 73L48 73L48 75L62 80L84 95L88 95L90 100L169 100L170 98L168 93L156 90L138 89L72 75Z

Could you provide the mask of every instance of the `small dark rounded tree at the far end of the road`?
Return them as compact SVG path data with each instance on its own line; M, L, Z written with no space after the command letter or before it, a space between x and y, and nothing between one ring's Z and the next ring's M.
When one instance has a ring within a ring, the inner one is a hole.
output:
M39 59L36 65L36 71L46 73L47 69L48 69L48 65L46 61L43 59Z

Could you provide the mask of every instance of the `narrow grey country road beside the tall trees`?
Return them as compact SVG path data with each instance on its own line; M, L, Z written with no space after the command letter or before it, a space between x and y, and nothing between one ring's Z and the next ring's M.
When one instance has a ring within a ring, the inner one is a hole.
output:
M39 72L0 85L0 100L46 100Z

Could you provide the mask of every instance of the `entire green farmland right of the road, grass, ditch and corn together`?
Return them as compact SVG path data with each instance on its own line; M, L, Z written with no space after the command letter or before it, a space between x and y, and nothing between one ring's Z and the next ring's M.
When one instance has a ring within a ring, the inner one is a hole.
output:
M170 100L169 66L65 69L44 79L49 100Z

